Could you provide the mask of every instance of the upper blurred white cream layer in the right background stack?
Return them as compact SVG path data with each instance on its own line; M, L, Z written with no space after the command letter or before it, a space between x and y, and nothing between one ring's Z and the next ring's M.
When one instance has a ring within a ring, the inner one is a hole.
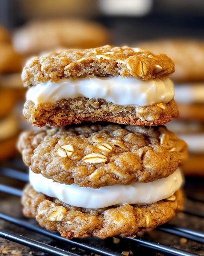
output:
M181 104L204 103L204 84L175 84L175 101Z

